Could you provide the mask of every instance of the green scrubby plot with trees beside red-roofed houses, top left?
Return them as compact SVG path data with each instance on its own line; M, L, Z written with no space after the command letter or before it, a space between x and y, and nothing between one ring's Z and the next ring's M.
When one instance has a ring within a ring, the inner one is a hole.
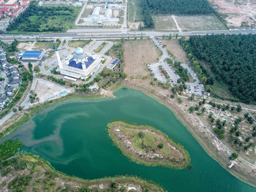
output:
M12 32L66 31L78 15L78 7L39 7L32 1L7 28Z

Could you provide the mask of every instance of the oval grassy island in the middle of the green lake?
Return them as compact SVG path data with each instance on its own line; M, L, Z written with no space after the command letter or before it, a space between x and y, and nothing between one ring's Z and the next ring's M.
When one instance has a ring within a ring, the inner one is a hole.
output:
M184 147L151 126L116 120L108 123L108 134L124 155L139 164L182 169L190 162Z

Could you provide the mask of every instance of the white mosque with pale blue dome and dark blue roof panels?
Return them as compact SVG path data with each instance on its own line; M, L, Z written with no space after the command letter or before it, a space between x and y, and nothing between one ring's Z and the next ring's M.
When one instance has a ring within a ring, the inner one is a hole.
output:
M86 54L83 48L78 47L75 49L74 55L69 55L65 58L64 64L62 64L60 58L58 62L61 74L75 79L86 79L99 70L102 64L102 57L94 53L91 55Z

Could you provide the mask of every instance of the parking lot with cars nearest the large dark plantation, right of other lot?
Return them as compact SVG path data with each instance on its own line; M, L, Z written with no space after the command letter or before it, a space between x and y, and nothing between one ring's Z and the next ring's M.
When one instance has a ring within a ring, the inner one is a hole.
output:
M186 82L186 85L188 86L188 93L195 94L195 96L204 96L204 86L198 80L193 69L188 64L181 64L181 66L184 67L184 69L187 69L187 73L194 80L194 82Z

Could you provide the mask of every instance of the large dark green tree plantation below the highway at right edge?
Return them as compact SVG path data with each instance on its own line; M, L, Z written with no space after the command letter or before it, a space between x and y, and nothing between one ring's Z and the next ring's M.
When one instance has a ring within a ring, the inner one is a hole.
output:
M227 83L240 101L256 102L256 35L192 36L181 45L190 58L206 61L216 80ZM194 59L195 60L195 59ZM201 70L202 71L202 70ZM207 75L206 75L207 76Z

